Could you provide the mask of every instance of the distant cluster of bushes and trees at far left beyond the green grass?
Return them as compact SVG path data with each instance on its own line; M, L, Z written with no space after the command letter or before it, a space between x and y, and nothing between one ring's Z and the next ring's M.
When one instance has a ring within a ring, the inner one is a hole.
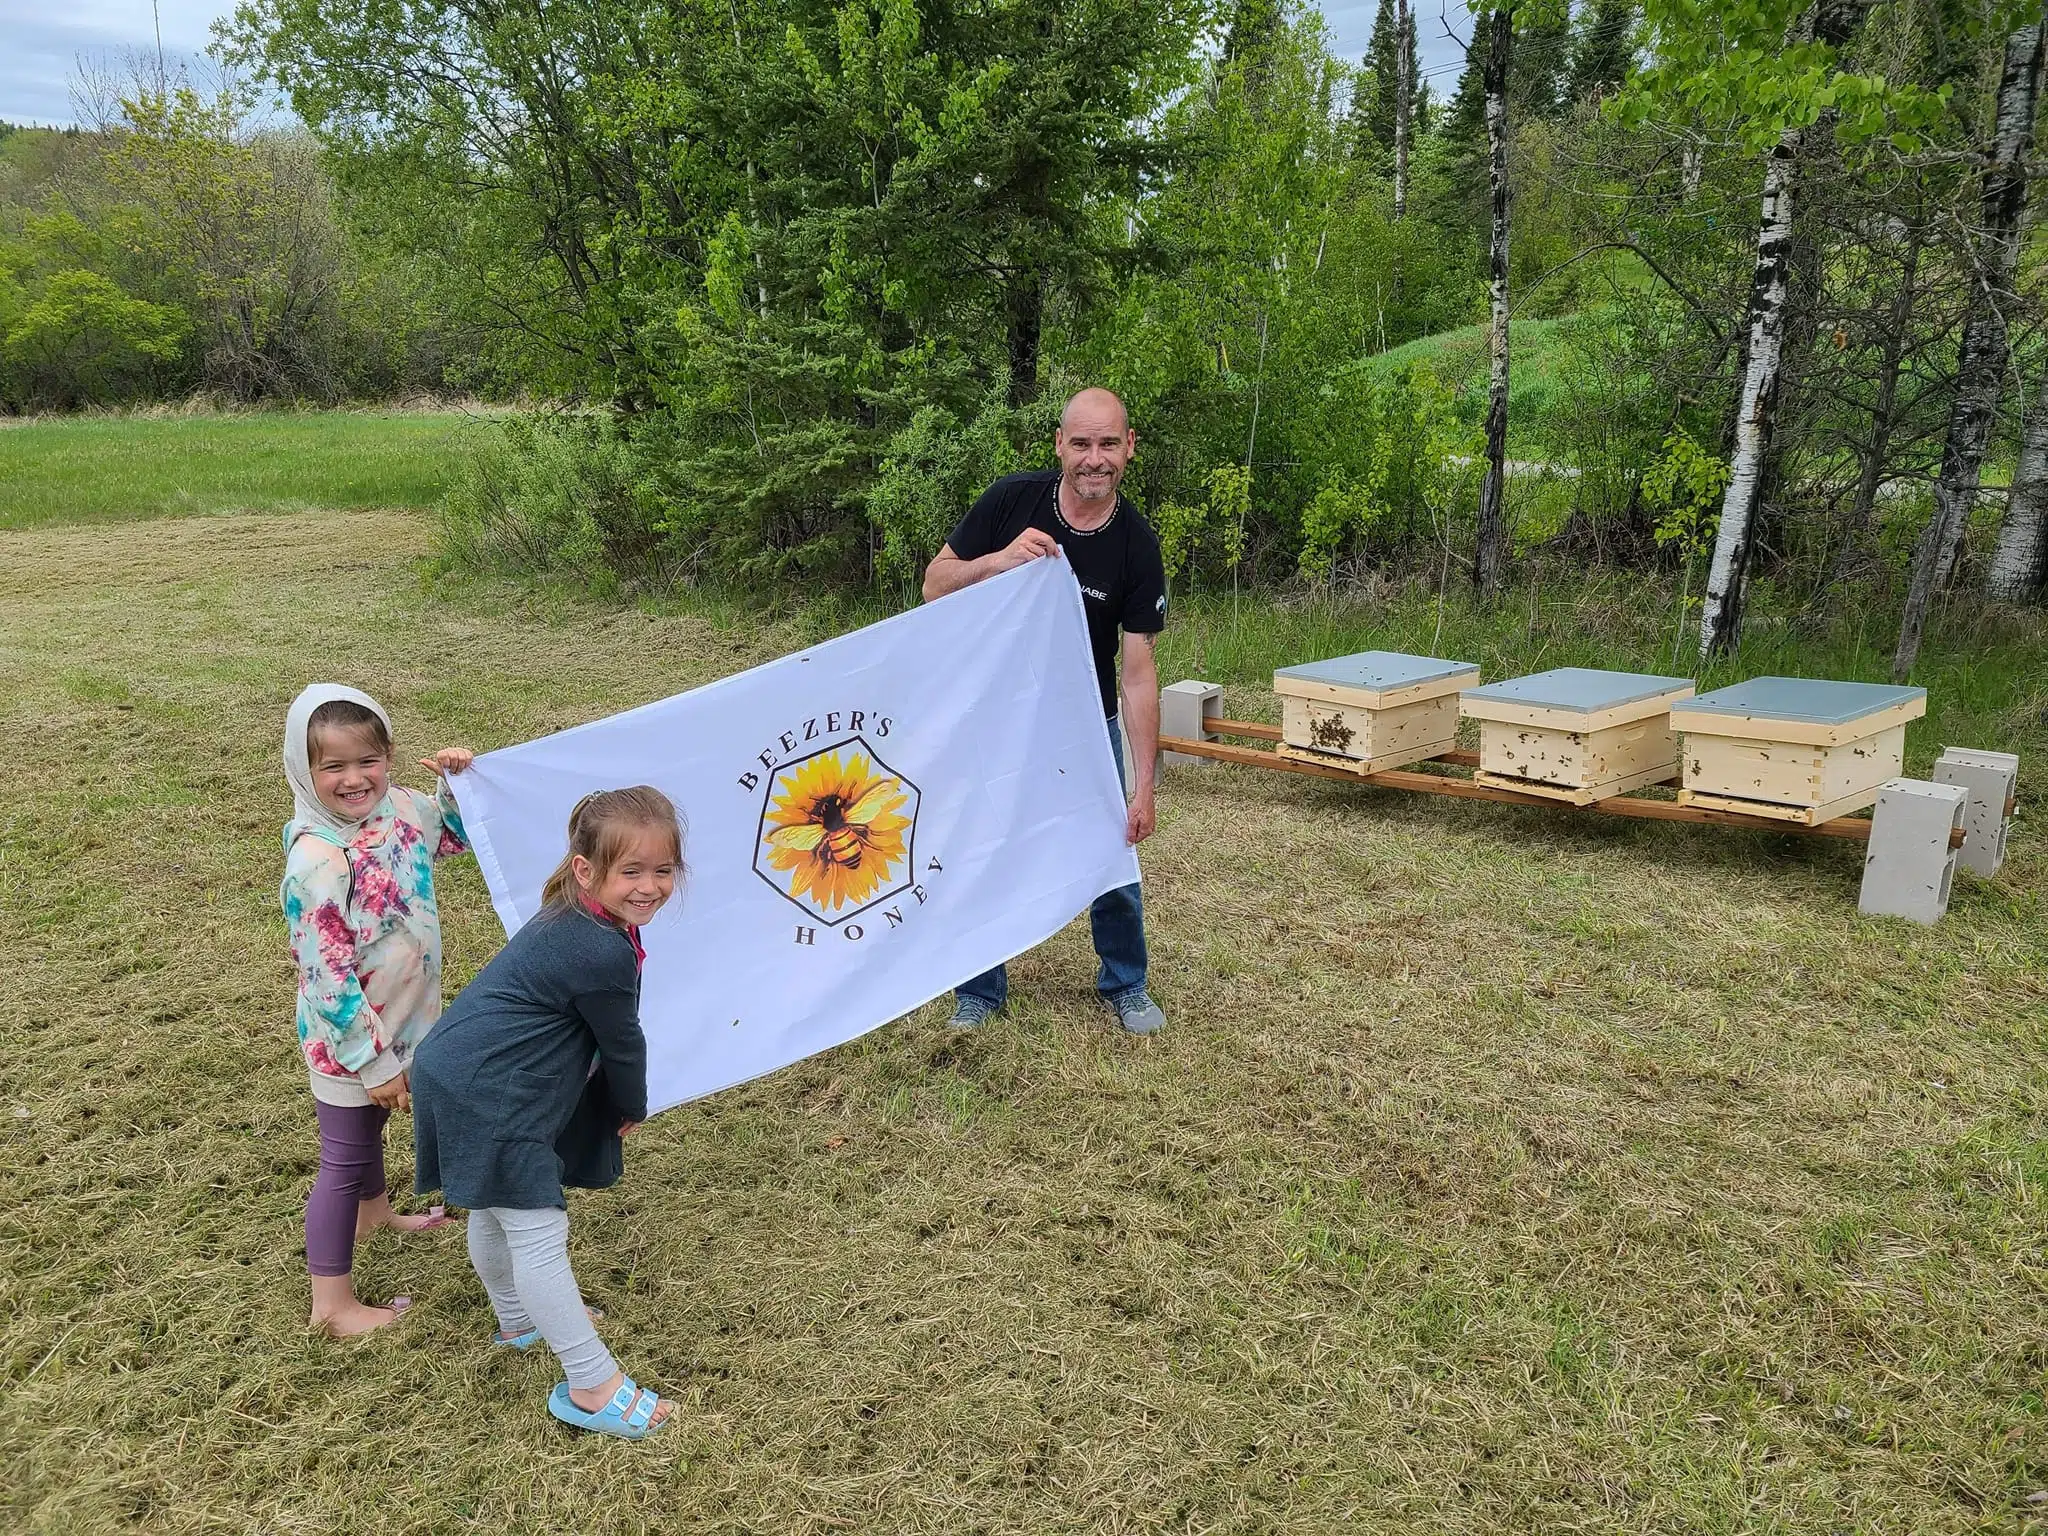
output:
M88 127L0 125L0 410L442 385L451 328L311 133L227 78L80 84Z

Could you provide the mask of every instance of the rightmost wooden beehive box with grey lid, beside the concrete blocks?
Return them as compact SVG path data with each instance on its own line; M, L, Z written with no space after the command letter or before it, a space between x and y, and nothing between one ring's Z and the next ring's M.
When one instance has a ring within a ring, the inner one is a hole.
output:
M1671 711L1686 735L1679 803L1808 827L1878 803L1898 778L1907 721L1925 688L1825 678L1751 678Z

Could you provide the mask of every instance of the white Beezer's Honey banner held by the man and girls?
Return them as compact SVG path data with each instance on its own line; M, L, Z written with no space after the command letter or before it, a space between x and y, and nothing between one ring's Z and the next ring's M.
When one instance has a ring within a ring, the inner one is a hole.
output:
M575 801L625 784L688 823L641 934L649 1108L866 1034L1139 879L1065 559L479 756L453 788L508 934Z

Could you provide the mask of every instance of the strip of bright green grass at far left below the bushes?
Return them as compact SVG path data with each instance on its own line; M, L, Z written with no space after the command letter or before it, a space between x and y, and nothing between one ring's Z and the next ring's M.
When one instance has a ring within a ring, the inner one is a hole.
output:
M360 410L74 416L0 426L0 528L430 506L473 420Z

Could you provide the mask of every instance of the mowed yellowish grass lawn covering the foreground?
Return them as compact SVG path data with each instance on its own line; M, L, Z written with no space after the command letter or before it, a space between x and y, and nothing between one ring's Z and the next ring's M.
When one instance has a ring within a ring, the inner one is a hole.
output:
M0 1528L2048 1528L2040 625L1942 664L1950 739L2032 756L1931 930L1855 913L1853 846L1169 770L1167 1032L1110 1028L1083 922L985 1032L934 1004L573 1198L682 1405L629 1446L489 1348L459 1231L367 1243L399 1327L305 1329L276 737L344 678L406 762L506 745L813 621L428 551L406 512L0 532ZM1602 633L1542 629L1538 666ZM1270 717L1272 653L1360 639L1196 606L1161 672ZM469 860L442 909L453 989L502 932Z

